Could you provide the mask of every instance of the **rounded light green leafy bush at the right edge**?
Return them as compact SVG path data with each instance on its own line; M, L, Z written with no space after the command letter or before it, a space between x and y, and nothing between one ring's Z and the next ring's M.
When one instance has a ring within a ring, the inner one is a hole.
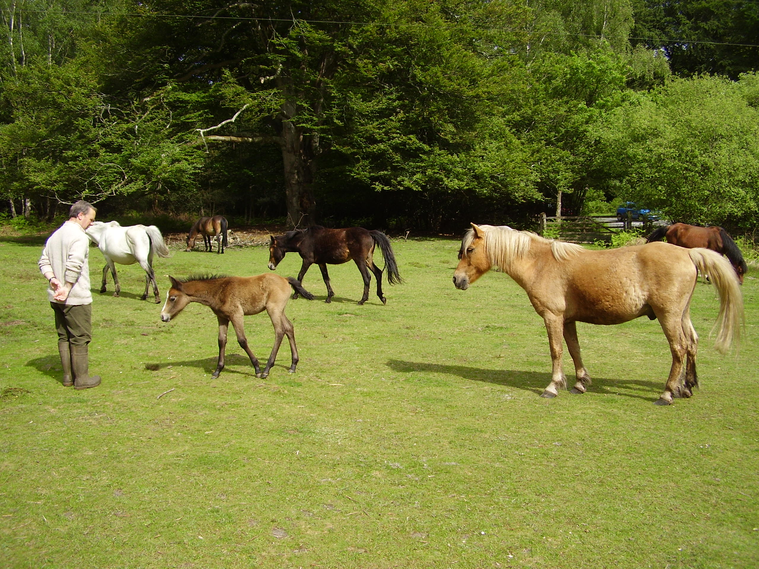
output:
M676 221L752 225L759 115L744 88L718 77L672 80L601 121L601 156L618 193Z

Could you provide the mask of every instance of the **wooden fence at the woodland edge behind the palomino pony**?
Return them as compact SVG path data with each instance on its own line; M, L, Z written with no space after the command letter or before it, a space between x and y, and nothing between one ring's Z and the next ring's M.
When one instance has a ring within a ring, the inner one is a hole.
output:
M538 216L538 234L556 234L562 241L571 243L595 243L606 241L610 243L612 235L619 231L629 231L632 228L641 228L644 233L653 231L653 224L647 219L633 221L627 217L622 221L613 215L562 215L548 216L541 213Z

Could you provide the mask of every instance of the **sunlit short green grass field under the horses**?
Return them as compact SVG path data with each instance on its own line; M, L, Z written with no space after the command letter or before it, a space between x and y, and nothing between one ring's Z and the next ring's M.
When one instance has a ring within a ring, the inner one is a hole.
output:
M74 391L42 244L0 241L0 567L759 566L753 275L737 359L714 351L717 301L697 286L701 390L670 407L653 405L671 360L648 319L578 325L594 385L538 397L542 320L506 275L455 290L458 242L442 239L393 240L406 283L384 307L356 305L352 263L330 266L323 303L312 268L317 300L287 309L298 373L285 342L263 380L233 339L212 380L209 309L164 324L141 269L118 266L121 297L94 293L102 385ZM156 274L163 296L165 275L255 275L267 259L174 251ZM277 272L299 268L290 253ZM246 323L265 360L268 317Z

